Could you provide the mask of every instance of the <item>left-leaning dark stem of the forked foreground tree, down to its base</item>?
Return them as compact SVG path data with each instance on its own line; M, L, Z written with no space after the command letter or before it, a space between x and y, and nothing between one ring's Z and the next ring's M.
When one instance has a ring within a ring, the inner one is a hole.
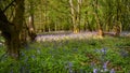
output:
M15 30L15 26L11 24L4 13L0 10L0 30L5 39L6 53L12 58L18 59L21 41L18 33Z

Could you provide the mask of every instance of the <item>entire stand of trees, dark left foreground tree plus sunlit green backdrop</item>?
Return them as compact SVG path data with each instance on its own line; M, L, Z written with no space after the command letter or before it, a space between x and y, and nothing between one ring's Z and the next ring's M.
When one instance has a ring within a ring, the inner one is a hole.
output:
M0 30L9 55L18 57L27 35L32 41L36 31L99 31L101 36L115 31L119 35L130 28L129 4L129 0L1 0Z

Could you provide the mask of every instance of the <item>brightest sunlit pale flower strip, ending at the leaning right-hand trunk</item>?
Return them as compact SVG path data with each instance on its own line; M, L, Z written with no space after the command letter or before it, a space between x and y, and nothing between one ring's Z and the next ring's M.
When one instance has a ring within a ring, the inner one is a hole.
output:
M79 32L79 33L69 33L69 34L47 34L47 35L38 35L36 38L37 42L44 41L60 41L60 40L73 40L73 39L96 39L96 32Z

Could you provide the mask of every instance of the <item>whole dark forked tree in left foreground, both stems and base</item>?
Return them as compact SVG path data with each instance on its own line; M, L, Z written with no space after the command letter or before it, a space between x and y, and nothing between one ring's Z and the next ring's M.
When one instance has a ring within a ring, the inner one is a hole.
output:
M6 53L14 59L20 58L20 48L22 45L21 33L24 21L24 0L15 0L15 16L13 21L10 23L4 12L0 10L0 30L5 39Z

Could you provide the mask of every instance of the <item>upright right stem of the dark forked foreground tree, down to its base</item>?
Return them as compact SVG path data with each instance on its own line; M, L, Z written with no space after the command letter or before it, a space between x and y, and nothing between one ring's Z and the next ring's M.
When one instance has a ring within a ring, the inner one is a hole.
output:
M23 46L22 43L23 43L23 38L25 36L21 36L22 33L23 33L23 27L24 27L24 11L25 11L25 8L24 8L24 0L15 0L15 16L13 18L13 24L14 24L14 31L11 32L12 34L12 39L11 41L9 41L9 49L8 49L8 53L9 54L15 54L14 58L18 58L20 57L20 48ZM17 56L17 57L16 57Z

